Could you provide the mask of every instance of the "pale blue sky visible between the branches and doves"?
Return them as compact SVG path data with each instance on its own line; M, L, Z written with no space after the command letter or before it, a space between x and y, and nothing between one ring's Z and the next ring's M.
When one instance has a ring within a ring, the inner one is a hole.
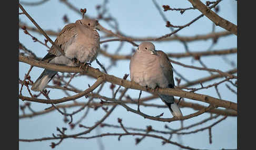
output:
M21 1L25 2L25 1ZM26 1L30 2L30 1ZM86 14L91 17L96 17L97 12L95 10L95 6L98 4L102 4L103 1L68 1L71 2L77 8L86 8ZM203 3L205 1L202 1ZM157 3L162 5L170 5L172 8L188 8L192 5L188 1L157 1ZM25 10L34 18L38 25L40 25L43 29L52 29L54 31L60 30L65 26L63 22L63 15L67 15L70 22L75 22L75 20L80 19L81 15L75 13L73 10L68 8L65 4L61 3L60 1L48 1L42 5L38 6L28 6L23 5ZM170 33L170 29L165 27L165 22L163 21L162 17L160 16L158 10L153 5L152 1L110 1L106 5L107 7L107 15L111 14L112 17L116 18L119 23L119 29L127 36L134 36L134 37L160 37L162 35ZM21 12L21 10L19 10ZM190 22L195 17L199 16L201 13L198 10L186 10L184 14L180 14L179 12L175 11L167 11L164 12L164 15L168 18L168 20L173 25L184 25ZM219 15L233 24L237 25L237 1L222 1L220 3L220 12ZM26 23L28 26L34 25L30 22L30 20L25 15L19 15L19 19L22 22ZM111 29L110 26L105 24L103 21L100 21L100 24L107 29ZM113 30L113 29L112 29ZM194 24L190 25L179 31L178 35L180 36L194 36L199 34L208 34L212 31L212 22L207 17L202 17L197 20ZM224 31L221 27L216 27L215 31ZM30 32L33 36L38 38L41 41L44 41L44 37L40 34ZM104 35L99 32L100 35ZM56 37L50 36L52 40L55 40ZM25 35L23 30L19 29L19 41L26 46L26 48L32 50L38 57L44 57L47 53L47 48L38 44L38 42L33 42L31 37ZM179 41L171 41L171 42L153 42L157 50L162 50L166 53L168 52L185 52L184 46ZM211 46L212 40L205 40L205 41L193 41L188 42L189 50L190 51L203 51L208 49ZM140 42L136 42L136 44L140 44ZM50 44L48 44L50 45ZM104 44L103 44L104 45ZM120 42L114 41L107 43L108 49L107 52L114 53L117 47L119 47ZM101 45L102 46L102 45ZM226 37L221 37L218 40L218 43L212 48L213 50L221 50L221 49L228 49L228 48L236 48L237 47L237 36L230 35ZM131 49L135 48L131 44L124 42L124 46L119 52L122 55L127 55L131 53ZM232 60L237 64L237 55L232 54L227 56L228 59ZM105 58L102 55L97 57L103 63L103 65L109 66L110 59ZM180 61L182 63L199 66L201 67L200 63L194 61L191 63L191 58L181 58L175 59L171 58L176 61ZM230 65L225 63L225 61L218 56L211 56L211 57L202 57L201 59L205 65L209 68L219 69L222 71L228 71L233 69ZM92 67L100 68L99 65L94 61L92 63ZM201 70L194 70L189 68L184 68L182 66L178 66L173 64L175 70L181 73L186 79L190 81L199 79L202 77L209 76L209 72L201 71ZM24 79L24 74L28 71L29 65L25 63L19 62L19 78ZM40 76L41 72L43 71L42 68L34 67L31 71L30 75L32 80L36 80L38 76ZM122 60L118 61L116 66L113 67L111 70L108 71L109 74L112 74L116 77L122 78L125 73L129 73L129 60ZM174 73L174 77L178 77ZM127 79L130 80L130 77ZM212 82L207 82L204 85L208 85L214 82L218 82L221 79L214 80ZM76 78L72 80L71 84L75 85L78 89L86 89L87 85L92 85L95 82L95 79L88 78L86 76ZM184 81L181 82L181 84ZM52 84L52 82L50 82ZM111 97L112 93L109 89L110 84L106 83L103 92L101 94L106 95L107 97ZM19 85L20 87L20 85ZM200 85L194 86L195 88L200 87ZM224 100L237 102L237 95L232 93L231 91L227 90L225 84L220 84L218 89L221 93L221 97ZM137 98L140 91L129 89L127 94L130 95L132 98ZM211 95L212 97L218 98L216 91L214 88L204 89L198 91L198 93ZM74 94L70 92L70 94ZM26 90L23 90L23 95L29 96ZM143 92L142 97L149 95L148 93ZM52 99L66 97L66 95L57 89L51 89L50 97ZM40 97L44 98L44 97ZM86 99L88 100L88 99ZM84 98L78 99L78 101L85 101ZM95 100L96 101L96 100ZM193 100L185 100L190 102L200 103L198 101ZM154 104L163 104L160 99L155 99L150 101L150 103ZM19 104L24 104L21 100L19 100ZM200 103L204 104L205 103ZM47 104L40 104L40 103L32 103L32 108L35 111L41 111L45 108L48 108L50 105ZM129 105L132 108L136 109L136 105ZM75 109L68 109L69 112L73 112ZM159 115L160 113L164 112L163 117L170 117L170 112L168 109L155 109L150 107L142 107L141 111L149 115ZM29 111L26 111L29 113ZM193 109L189 108L182 108L183 115L187 115L190 113L195 112ZM22 112L19 111L21 115ZM84 111L78 113L73 116L73 120L77 121L80 117L84 114ZM90 110L88 116L82 121L81 124L86 126L93 125L96 121L100 120L101 117L105 114L105 112L101 109L94 111ZM202 114L200 116L194 117L189 120L184 121L184 126L190 125L192 123L201 121L206 117L209 117L210 114ZM111 116L107 118L104 123L115 124L117 123L117 118L120 117L123 119L123 124L125 126L133 126L137 128L146 128L147 125L152 125L153 128L157 130L166 130L164 128L165 124L168 124L172 128L179 128L180 121L171 122L171 123L163 123L163 122L156 122L144 119L143 117L127 112L122 106L117 106L117 108L113 111ZM220 117L218 117L220 119ZM205 123L198 127L192 128L191 130L195 130L196 128L204 127L207 125L212 124L216 120L211 122ZM47 113L42 116L36 116L33 118L26 118L19 120L19 138L42 138L42 137L49 137L52 136L52 133L57 134L56 127L67 127L68 130L66 131L67 134L73 134L81 132L81 128L75 127L74 130L70 130L67 123L63 122L63 115L54 111L52 113ZM92 136L98 134L97 132L105 133L105 132L123 132L122 130L116 128L99 128L97 130L92 131L90 134L86 136ZM151 137L146 137L140 144L135 145L135 137L136 136L126 136L122 137L121 141L117 140L116 136L113 137L102 137L99 138L101 142L104 144L105 149L179 149L178 146L172 144L165 144L161 145L161 140ZM139 137L139 136L137 136ZM183 135L180 138L174 135L172 137L172 141L175 142L182 142L185 146L190 146L194 148L204 148L204 149L221 149L221 148L237 148L237 117L228 117L220 124L214 126L212 128L212 144L209 144L209 135L208 130L199 132L196 134L190 135ZM99 140L98 139L98 140ZM42 141L42 142L19 142L19 149L52 149L49 145L51 142L58 142L58 141ZM93 148L93 149L100 149L99 141L97 139L91 140L74 140L74 139L67 139L64 140L60 145L56 146L55 149L86 149L86 148Z

